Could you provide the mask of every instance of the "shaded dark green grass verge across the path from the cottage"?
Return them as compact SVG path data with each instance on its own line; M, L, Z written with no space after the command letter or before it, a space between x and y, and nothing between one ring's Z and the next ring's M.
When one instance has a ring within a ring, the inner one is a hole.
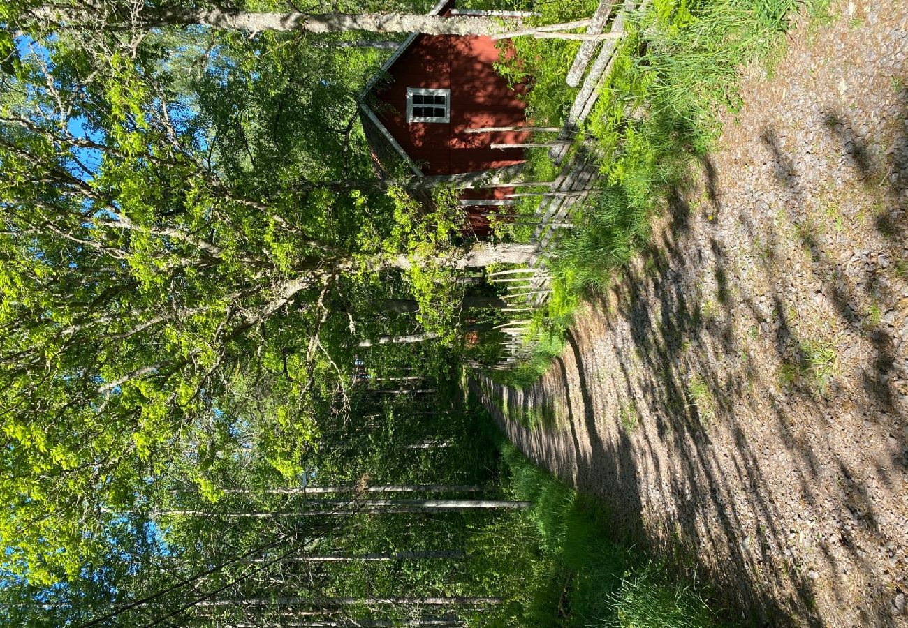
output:
M718 624L702 590L639 546L617 541L607 510L502 449L509 491L532 507L513 525L532 534L532 560L518 557L521 600L498 609L492 625L566 628L699 628Z

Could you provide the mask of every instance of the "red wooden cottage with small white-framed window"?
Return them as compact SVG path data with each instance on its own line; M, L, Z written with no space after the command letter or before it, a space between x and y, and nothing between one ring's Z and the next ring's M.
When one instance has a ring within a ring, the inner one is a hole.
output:
M454 0L441 0L429 15L469 12L455 9ZM400 44L360 94L363 129L383 176L402 166L417 177L443 182L450 175L519 168L521 148L492 144L527 142L527 132L479 131L526 124L521 87L509 88L495 71L498 56L488 36L410 34ZM460 203L477 236L489 235L483 214L513 191L462 191Z

